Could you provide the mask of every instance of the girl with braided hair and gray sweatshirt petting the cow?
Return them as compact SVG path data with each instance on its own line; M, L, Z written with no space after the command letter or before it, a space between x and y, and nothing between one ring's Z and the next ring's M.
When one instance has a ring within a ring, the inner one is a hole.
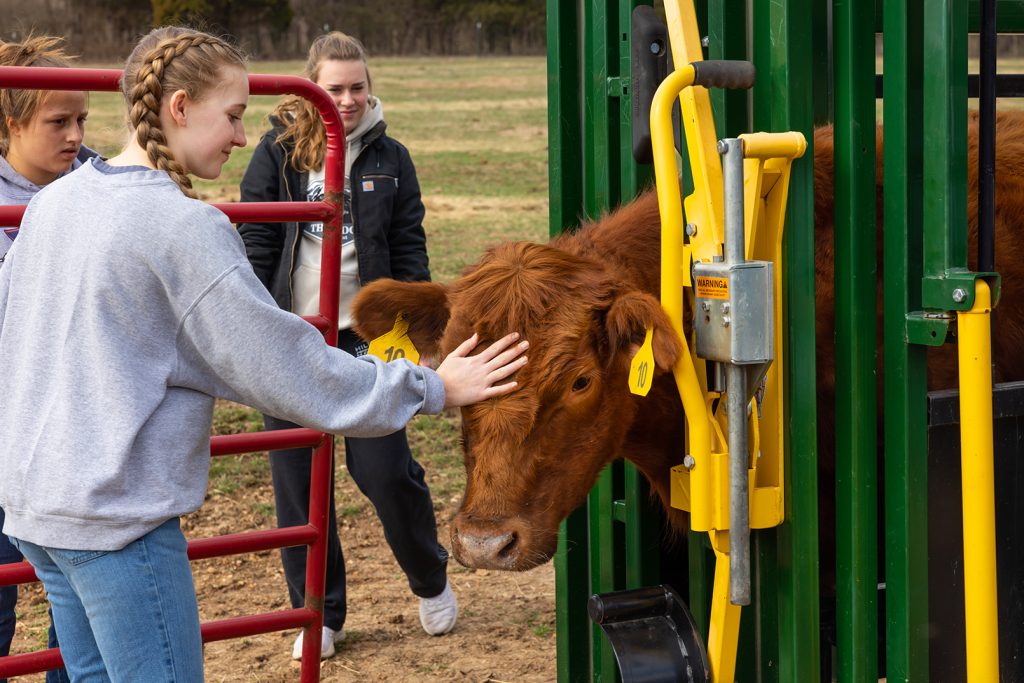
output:
M193 199L243 146L245 60L158 29L123 90L131 137L31 202L0 266L0 506L42 580L74 681L203 680L179 518L203 502L214 397L377 436L515 389L509 335L437 371L355 358L283 311L227 218ZM500 383L500 384L499 384Z

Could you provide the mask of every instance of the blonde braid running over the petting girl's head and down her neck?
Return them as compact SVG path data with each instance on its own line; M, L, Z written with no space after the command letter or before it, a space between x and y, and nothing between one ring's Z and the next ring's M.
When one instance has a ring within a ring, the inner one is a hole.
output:
M199 32L175 35L162 40L142 58L134 74L134 85L126 94L130 105L128 120L135 128L135 139L145 150L150 161L158 170L166 171L185 196L197 199L191 178L171 154L160 124L165 75L174 59L193 48L207 52L208 56L222 63L238 62L242 58L237 50L214 36ZM196 97L197 93L189 92L189 95Z

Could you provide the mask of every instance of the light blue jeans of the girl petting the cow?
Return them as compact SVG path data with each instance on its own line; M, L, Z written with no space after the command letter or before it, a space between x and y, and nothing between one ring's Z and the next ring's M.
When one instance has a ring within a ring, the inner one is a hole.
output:
M177 517L117 551L11 542L46 587L75 683L203 680L196 587Z

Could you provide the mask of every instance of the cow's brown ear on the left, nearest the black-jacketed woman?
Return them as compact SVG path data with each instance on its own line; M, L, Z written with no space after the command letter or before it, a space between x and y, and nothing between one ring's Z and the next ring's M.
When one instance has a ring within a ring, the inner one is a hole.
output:
M409 324L409 338L425 356L436 356L447 327L447 288L437 283L402 283L377 280L370 283L352 302L356 334L371 341L391 331L397 315Z

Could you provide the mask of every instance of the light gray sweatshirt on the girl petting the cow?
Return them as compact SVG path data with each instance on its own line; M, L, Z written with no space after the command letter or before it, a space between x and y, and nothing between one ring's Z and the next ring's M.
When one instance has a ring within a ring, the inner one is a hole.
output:
M3 531L118 550L203 502L214 396L323 431L444 402L281 310L227 218L167 174L94 159L43 188L0 264Z

